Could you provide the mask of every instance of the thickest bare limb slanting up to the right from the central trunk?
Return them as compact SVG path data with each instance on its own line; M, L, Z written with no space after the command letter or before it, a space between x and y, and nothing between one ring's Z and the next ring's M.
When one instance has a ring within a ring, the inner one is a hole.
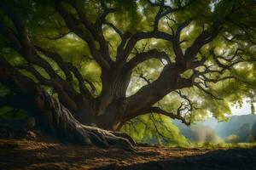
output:
M143 86L136 94L128 97L125 120L137 116L174 90L192 87L192 78L179 77L180 71L182 70L175 64L166 65L157 80Z

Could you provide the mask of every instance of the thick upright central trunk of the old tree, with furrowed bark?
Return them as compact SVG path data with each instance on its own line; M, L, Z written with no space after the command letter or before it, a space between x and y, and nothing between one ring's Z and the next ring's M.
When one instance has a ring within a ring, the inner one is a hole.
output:
M102 72L102 93L96 99L97 105L95 111L92 111L94 112L92 116L93 121L90 123L112 131L119 130L124 123L123 118L126 109L125 92L130 80L131 71L121 70L114 65L111 71ZM84 111L79 112L82 115L88 114ZM79 122L86 124L83 116L80 117L78 118Z

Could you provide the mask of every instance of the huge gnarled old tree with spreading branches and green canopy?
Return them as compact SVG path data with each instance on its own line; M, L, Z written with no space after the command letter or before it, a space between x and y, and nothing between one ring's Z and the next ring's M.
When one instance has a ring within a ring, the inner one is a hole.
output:
M255 10L253 0L2 0L0 106L83 144L129 144L100 128L147 113L218 117L254 93Z

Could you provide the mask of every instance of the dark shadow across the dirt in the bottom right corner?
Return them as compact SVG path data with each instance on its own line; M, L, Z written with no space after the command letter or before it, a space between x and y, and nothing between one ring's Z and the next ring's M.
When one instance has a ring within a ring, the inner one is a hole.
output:
M212 170L212 169L256 169L256 148L253 149L230 149L230 150L212 150L201 156L184 156L182 158L169 158L160 161L149 161L146 163L133 164L131 166L119 167L117 164L111 164L102 169L173 169L173 170Z

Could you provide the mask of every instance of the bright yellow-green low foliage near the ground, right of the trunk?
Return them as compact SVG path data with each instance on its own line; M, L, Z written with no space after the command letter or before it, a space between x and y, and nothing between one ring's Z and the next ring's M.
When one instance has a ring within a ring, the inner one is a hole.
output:
M137 142L188 146L188 140L179 133L167 116L147 114L126 122L121 129Z

